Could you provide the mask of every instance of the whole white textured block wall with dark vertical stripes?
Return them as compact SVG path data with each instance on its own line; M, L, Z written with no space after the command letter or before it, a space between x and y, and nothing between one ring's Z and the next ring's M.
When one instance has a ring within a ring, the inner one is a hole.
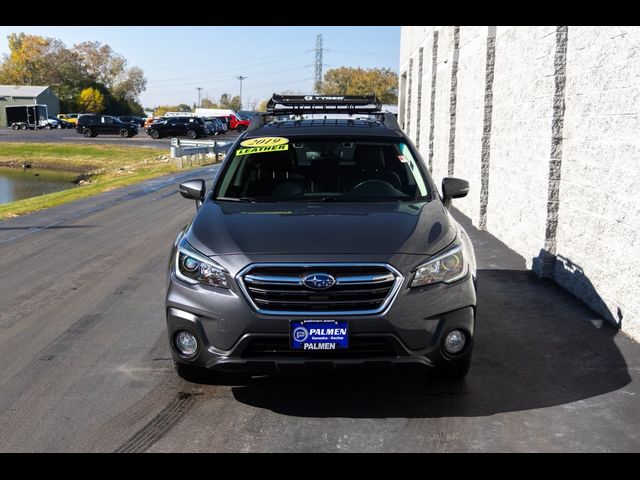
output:
M469 180L474 225L640 340L640 29L403 27L410 62L436 183Z

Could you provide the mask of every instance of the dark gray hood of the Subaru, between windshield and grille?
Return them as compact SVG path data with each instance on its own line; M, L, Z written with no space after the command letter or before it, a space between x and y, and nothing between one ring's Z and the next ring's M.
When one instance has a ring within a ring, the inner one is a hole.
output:
M419 203L232 203L207 200L187 241L229 254L431 255L456 236L438 201Z

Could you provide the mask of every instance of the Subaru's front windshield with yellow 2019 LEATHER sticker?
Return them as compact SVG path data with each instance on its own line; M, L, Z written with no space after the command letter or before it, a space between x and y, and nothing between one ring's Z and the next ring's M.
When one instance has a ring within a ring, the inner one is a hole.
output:
M217 183L222 201L417 201L430 192L401 141L284 137L243 141Z

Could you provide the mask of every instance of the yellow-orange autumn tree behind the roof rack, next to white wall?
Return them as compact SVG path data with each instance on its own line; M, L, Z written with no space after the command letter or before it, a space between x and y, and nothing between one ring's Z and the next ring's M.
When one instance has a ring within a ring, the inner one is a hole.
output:
M382 103L397 103L398 76L389 68L332 68L325 73L319 91L322 95L376 94Z

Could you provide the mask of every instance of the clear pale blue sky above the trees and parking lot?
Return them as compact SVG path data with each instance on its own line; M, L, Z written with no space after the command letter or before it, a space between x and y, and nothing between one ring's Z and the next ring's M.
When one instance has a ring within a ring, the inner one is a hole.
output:
M222 93L240 94L244 107L282 90L311 93L316 36L323 36L323 71L349 66L399 68L400 27L28 27L0 26L0 55L7 35L53 37L67 46L98 41L144 70L143 107L192 105Z

